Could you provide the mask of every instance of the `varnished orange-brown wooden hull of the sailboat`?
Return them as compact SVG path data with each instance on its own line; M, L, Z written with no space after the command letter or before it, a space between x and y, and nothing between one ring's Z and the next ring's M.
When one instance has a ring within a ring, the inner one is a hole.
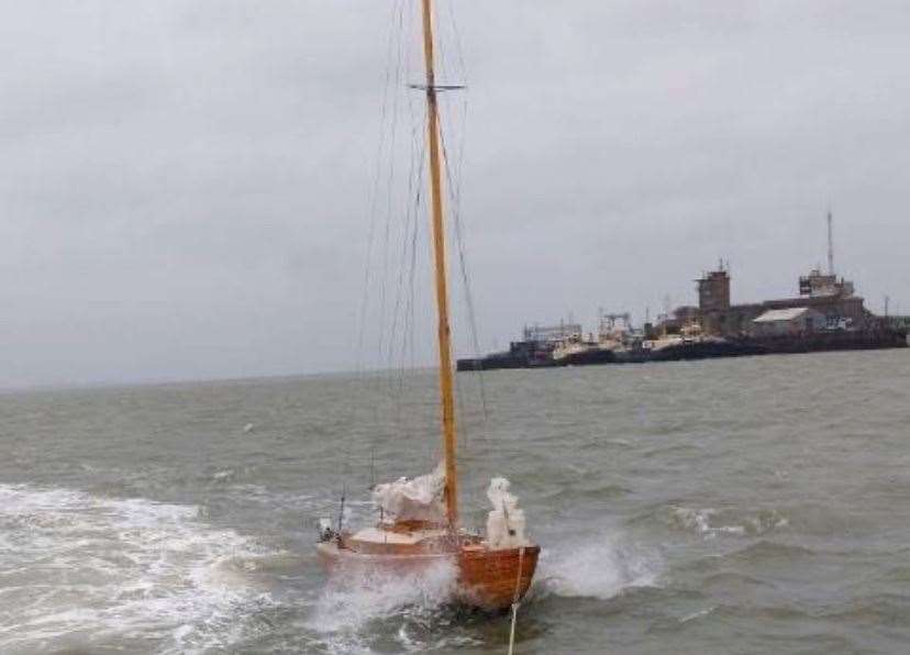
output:
M317 547L320 559L330 569L346 571L420 573L448 562L457 568L454 600L487 611L508 609L521 600L531 586L537 567L540 546L490 551L481 545L463 545L453 549L425 553L358 553L336 543Z

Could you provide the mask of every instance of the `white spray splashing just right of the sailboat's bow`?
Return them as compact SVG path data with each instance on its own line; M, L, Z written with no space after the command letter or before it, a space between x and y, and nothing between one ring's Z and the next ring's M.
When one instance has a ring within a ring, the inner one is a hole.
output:
M629 588L656 585L664 564L655 551L612 533L547 549L539 568L544 592L606 600Z

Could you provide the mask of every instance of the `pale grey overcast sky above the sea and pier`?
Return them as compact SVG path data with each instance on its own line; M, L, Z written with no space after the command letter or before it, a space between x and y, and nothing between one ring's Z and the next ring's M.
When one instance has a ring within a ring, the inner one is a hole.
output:
M352 368L401 1L0 2L0 386ZM484 349L796 295L829 207L910 313L906 0L450 4Z

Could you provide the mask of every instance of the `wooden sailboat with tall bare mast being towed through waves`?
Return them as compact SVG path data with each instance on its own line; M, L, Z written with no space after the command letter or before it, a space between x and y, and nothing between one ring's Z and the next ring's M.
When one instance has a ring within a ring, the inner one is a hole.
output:
M379 521L346 531L323 519L317 552L328 567L367 571L413 571L448 563L455 567L453 600L485 610L513 609L526 593L537 565L540 546L525 535L524 513L504 478L487 490L493 509L485 534L462 526L458 518L458 469L454 367L450 331L445 215L441 171L437 93L451 87L436 84L432 0L420 0L426 74L426 143L430 164L430 209L437 312L439 387L443 462L433 473L377 485L373 491ZM343 512L342 512L343 514Z

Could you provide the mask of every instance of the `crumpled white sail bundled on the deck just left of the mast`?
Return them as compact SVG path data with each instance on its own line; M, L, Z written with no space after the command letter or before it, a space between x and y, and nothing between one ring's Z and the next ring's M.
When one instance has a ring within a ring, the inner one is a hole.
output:
M382 510L385 522L430 521L445 522L445 468L442 463L426 475L399 478L393 482L376 485L373 501Z

